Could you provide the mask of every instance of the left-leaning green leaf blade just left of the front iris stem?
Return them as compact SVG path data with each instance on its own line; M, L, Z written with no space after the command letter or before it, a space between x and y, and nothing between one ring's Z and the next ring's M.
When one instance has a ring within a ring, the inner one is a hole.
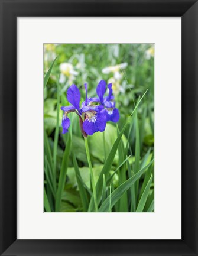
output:
M83 209L84 209L85 212L87 212L87 209L89 207L89 200L88 200L88 197L87 197L87 192L86 192L86 189L85 189L85 185L83 184L83 180L82 180L82 177L80 175L79 166L77 164L76 156L75 156L74 152L72 153L72 157L73 157L74 170L75 170L75 173L76 173L76 180L77 180L77 184L79 186L80 198L82 200Z

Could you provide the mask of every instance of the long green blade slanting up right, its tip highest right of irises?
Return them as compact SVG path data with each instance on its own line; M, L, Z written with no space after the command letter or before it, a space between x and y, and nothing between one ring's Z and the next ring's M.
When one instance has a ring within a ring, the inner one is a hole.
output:
M118 145L119 145L119 142L121 141L122 134L124 133L126 125L128 124L129 120L131 119L132 114L134 114L134 112L136 111L136 109L139 106L139 103L142 101L142 99L144 98L146 93L147 93L147 90L144 93L144 95L142 95L141 99L139 100L138 104L135 106L135 108L132 111L132 113L129 116L129 118L126 120L124 127L122 128L121 132L118 135L118 138L116 138L116 140L115 140L115 142L113 144L113 147L111 148L111 151L109 152L109 155L108 155L108 157L107 157L107 159L105 161L105 164L104 164L104 166L102 168L102 171L101 171L101 173L99 175L98 182L96 183L96 194L98 196L98 200L100 200L100 197L102 195L101 187L102 187L102 183L103 183L103 174L105 174L105 179L108 179L109 171L111 170L111 166L112 166L112 163L113 163L116 151L118 150ZM91 212L93 210L93 208L94 208L94 202L93 202L93 196L92 196L92 198L90 200L90 203L89 203L88 211Z

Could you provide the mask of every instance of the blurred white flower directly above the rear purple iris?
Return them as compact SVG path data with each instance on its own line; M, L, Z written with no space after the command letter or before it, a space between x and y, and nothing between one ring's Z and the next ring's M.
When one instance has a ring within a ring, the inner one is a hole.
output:
M112 89L115 95L118 95L119 92L124 92L124 89L121 86L122 73L120 70L125 69L127 66L128 63L125 62L102 69L103 74L113 73L113 77L109 78L108 83L112 83Z

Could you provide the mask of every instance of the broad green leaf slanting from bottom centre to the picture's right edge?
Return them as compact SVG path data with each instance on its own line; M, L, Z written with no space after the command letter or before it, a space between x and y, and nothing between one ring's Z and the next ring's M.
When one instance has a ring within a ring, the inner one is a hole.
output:
M115 203L118 202L118 200L121 198L121 196L126 192L126 190L128 190L132 186L132 184L134 184L139 179L139 177L141 177L142 173L144 173L144 171L148 168L148 166L151 165L151 163L152 161L149 164L147 164L147 166L145 166L140 171L138 171L138 173L134 174L134 176L126 180L126 182L122 183L119 187L117 187L117 189L115 189L111 193L111 207L113 207ZM109 196L105 199L105 202L103 202L99 208L99 212L108 212L108 211L109 211Z

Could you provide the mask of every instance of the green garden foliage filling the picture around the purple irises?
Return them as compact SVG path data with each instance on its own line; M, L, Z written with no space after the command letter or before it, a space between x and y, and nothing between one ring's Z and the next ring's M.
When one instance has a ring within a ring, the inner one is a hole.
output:
M45 212L154 212L152 50L152 44L44 46ZM64 72L61 63L67 64ZM118 70L117 80L102 72L121 63L128 66ZM96 96L101 79L113 83L119 122L84 141L79 118L69 114L69 133L61 134L67 88L75 83L84 101L83 83Z

